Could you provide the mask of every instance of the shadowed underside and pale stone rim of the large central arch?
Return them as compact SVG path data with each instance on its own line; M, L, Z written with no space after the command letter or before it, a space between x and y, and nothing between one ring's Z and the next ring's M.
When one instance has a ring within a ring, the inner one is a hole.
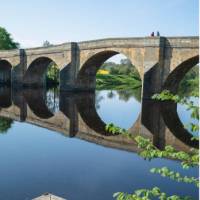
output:
M106 60L117 54L122 54L126 56L133 64L133 59L131 59L131 55L124 52L123 50L118 49L100 50L95 54L87 55L86 59L84 59L84 63L80 66L80 70L76 79L76 87L84 90L94 90L96 86L96 73L98 69ZM137 67L136 69L141 75L140 70Z

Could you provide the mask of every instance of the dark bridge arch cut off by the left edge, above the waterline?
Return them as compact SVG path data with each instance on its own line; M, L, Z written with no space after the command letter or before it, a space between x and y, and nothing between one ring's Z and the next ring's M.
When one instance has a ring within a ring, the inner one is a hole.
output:
M7 60L0 60L0 84L11 84L12 64Z

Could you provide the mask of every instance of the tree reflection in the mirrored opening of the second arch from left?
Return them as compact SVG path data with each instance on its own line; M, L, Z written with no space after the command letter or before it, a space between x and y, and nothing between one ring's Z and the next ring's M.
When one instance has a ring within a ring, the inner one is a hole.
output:
M58 88L51 88L47 91L45 103L51 112L55 113L59 111Z

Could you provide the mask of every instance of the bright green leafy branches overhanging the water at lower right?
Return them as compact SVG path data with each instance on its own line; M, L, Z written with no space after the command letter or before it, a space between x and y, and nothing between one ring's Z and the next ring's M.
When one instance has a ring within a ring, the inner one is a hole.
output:
M197 93L195 93L196 95ZM188 110L191 110L191 118L199 119L199 108L194 105L194 102L188 100L187 98L181 98L178 95L171 94L168 90L163 91L160 94L155 94L153 99L161 101L174 101L187 106ZM194 131L199 130L198 124L190 124L191 129ZM171 158L175 160L180 160L183 169L188 169L190 167L199 166L199 152L197 149L191 149L189 153L184 151L177 151L172 146L165 146L164 150L160 150L155 147L150 139L144 138L142 136L134 137L131 133L125 129L115 126L114 124L106 125L106 130L113 134L121 134L126 137L133 139L137 146L141 149L139 155L144 159L154 159L154 158ZM192 140L198 140L198 137L193 137ZM172 180L184 183L194 184L199 187L199 180L195 177L182 176L180 173L170 170L167 167L162 168L152 168L150 170L152 173L160 174L162 177L168 177ZM169 196L160 191L158 187L153 189L141 189L136 190L132 194L127 194L124 192L118 192L113 195L117 200L150 200L150 199L162 199L162 200L180 200L180 199L191 199L190 197L179 197L177 195Z

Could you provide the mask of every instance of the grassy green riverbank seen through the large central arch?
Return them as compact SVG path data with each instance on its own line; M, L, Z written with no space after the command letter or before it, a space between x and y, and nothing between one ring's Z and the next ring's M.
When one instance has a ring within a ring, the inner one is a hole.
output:
M96 75L97 89L136 89L141 86L141 80L134 75Z

